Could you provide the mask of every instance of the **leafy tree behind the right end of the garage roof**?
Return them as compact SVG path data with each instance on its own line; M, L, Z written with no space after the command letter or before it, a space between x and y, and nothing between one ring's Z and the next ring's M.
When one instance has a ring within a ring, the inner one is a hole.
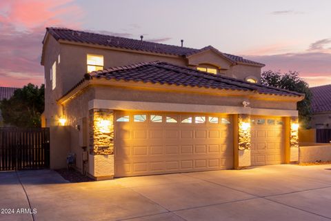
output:
M299 122L301 126L305 128L310 127L310 119L312 118L312 109L310 107L312 93L309 90L308 83L299 77L297 71L290 70L288 73L280 73L266 70L261 75L261 83L267 86L274 86L305 94L305 99L297 103L297 110L299 111Z

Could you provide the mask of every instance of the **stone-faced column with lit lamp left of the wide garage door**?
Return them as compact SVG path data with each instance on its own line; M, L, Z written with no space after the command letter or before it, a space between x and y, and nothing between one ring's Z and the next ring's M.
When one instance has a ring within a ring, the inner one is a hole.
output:
M95 180L114 178L114 115L112 110L90 110L89 173Z

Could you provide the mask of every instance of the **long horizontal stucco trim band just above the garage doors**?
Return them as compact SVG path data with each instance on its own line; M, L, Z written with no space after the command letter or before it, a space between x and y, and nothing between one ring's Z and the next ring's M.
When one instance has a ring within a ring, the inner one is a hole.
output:
M297 117L298 111L250 108L240 106L217 106L203 104L175 104L161 102L131 102L92 99L88 102L88 109L102 108L127 111L174 111L174 112L198 112L198 113L228 113L228 114L250 114L250 115L272 115Z

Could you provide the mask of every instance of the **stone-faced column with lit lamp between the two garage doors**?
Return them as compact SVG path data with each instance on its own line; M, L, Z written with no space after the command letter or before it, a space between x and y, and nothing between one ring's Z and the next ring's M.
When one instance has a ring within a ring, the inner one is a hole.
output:
M250 166L250 115L234 115L234 169Z

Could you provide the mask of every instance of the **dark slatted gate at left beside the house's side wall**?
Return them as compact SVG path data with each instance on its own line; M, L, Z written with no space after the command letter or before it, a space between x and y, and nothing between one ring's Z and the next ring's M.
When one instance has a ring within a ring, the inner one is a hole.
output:
M50 166L50 128L0 128L0 171Z

